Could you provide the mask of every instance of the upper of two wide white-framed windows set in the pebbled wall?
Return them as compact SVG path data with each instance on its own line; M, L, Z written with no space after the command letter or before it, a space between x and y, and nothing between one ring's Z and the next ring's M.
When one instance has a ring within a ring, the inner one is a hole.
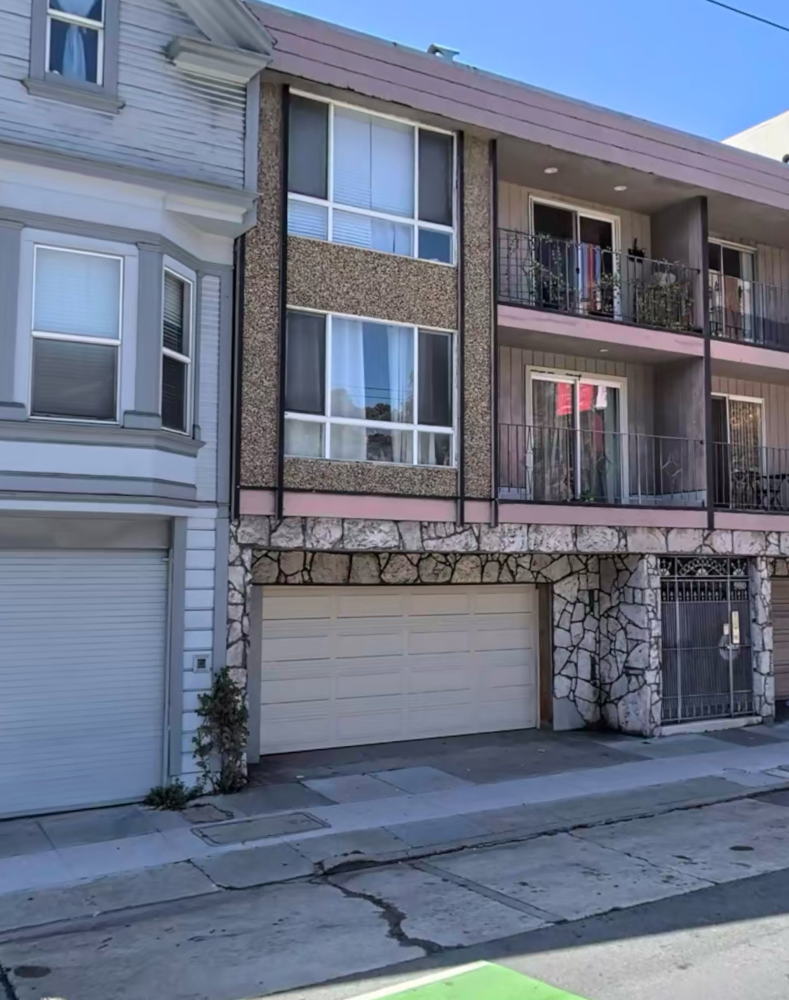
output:
M455 260L452 132L291 93L288 232Z

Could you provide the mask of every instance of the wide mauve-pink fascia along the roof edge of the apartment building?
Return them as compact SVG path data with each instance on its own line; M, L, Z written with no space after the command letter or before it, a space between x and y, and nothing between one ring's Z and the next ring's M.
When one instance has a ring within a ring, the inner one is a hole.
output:
M692 187L789 208L789 178L766 157L453 66L281 8L253 4L250 9L276 39L275 71Z

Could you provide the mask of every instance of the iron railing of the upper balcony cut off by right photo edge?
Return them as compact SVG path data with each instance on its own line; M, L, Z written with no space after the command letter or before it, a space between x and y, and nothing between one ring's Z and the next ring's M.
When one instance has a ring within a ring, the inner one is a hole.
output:
M789 289L710 271L713 337L789 350Z

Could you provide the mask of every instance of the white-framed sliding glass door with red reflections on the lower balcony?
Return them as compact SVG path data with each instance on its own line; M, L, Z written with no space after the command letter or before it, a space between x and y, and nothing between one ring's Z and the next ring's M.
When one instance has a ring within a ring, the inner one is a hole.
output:
M621 502L622 386L585 376L534 372L528 388L530 499Z

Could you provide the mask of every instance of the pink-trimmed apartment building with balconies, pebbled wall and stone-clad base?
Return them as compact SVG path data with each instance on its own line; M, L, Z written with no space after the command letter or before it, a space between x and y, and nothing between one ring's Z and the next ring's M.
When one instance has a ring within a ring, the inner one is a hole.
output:
M789 171L261 4L251 759L789 697Z

